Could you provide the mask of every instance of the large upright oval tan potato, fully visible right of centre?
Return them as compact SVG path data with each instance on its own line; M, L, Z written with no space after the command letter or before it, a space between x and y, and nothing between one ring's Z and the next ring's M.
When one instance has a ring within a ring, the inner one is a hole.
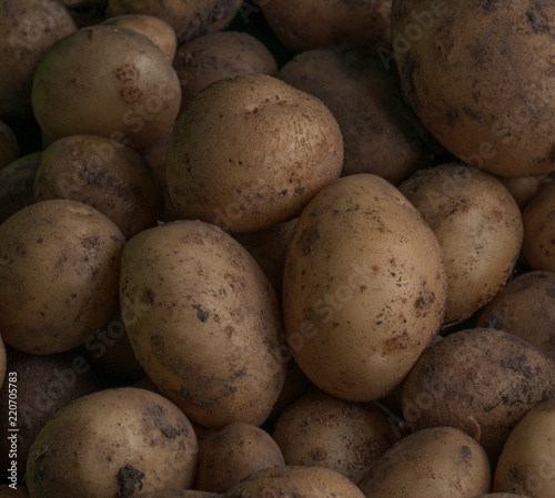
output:
M285 261L287 343L341 399L392 392L438 332L447 274L440 244L385 180L345 176L303 210Z

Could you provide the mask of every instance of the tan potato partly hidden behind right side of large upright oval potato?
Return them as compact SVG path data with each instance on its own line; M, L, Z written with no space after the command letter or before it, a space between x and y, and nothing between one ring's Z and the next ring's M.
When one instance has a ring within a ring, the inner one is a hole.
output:
M398 190L442 246L450 277L444 322L462 322L513 274L523 241L521 211L495 177L461 163L420 170Z

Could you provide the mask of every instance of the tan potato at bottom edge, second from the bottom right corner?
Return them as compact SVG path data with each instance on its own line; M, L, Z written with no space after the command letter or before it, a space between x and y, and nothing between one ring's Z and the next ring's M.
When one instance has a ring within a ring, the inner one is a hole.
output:
M454 427L420 430L396 443L359 487L366 498L466 498L490 491L484 449Z

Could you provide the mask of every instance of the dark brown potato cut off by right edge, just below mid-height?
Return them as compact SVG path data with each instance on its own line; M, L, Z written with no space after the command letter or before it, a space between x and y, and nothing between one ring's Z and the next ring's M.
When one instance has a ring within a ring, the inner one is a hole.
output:
M555 362L555 273L518 275L482 311L478 327L508 332Z

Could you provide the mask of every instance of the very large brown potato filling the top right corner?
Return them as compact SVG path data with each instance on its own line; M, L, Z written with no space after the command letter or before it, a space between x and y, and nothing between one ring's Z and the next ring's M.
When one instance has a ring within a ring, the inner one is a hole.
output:
M555 82L548 1L393 0L403 94L456 157L503 176L555 170Z

